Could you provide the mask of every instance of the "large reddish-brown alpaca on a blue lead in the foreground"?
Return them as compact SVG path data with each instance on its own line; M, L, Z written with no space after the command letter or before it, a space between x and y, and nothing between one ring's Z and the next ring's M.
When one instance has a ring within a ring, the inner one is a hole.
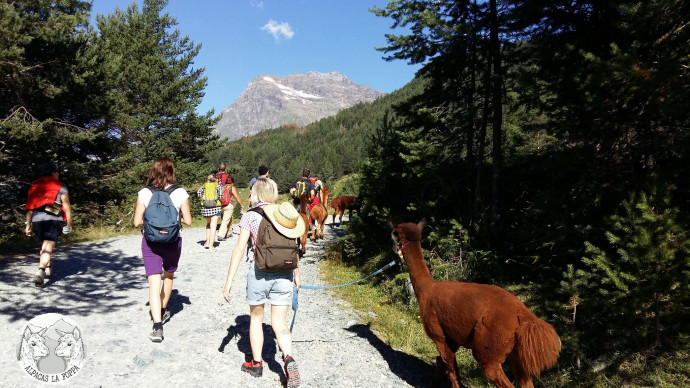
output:
M532 377L552 367L561 350L554 328L500 287L435 282L420 243L425 224L422 220L419 224L391 224L391 228L395 250L410 272L424 330L440 353L437 367L445 366L452 386L460 387L455 352L463 346L472 350L494 386L513 387L501 367L508 358L520 387L534 387Z

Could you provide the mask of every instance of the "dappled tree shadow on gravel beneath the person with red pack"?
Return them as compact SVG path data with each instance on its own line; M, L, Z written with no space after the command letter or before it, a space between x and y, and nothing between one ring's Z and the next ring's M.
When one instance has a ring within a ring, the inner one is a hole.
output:
M0 315L15 322L45 313L109 313L137 303L120 291L147 287L141 257L113 250L108 241L58 246L51 267L52 277L38 288L38 249L28 258L0 260Z

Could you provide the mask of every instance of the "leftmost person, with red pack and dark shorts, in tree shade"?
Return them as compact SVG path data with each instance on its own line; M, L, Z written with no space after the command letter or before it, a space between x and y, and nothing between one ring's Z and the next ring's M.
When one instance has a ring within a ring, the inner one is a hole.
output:
M44 279L51 275L50 259L60 233L72 232L72 206L67 186L58 180L59 172L55 164L43 163L39 167L39 175L40 178L31 182L26 198L24 233L27 236L35 234L41 241L34 284L43 287Z

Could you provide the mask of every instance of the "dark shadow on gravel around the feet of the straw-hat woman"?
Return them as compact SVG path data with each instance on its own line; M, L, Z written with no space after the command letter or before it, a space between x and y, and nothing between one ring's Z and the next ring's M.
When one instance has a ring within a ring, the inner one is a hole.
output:
M261 351L261 357L264 359L264 364L268 366L272 372L281 376L281 380L285 379L285 373L283 372L283 366L275 360L276 353L278 352L278 346L273 334L273 328L271 325L262 323L262 329L264 332L264 347ZM238 315L235 318L235 324L228 327L228 334L223 338L218 347L218 351L225 352L225 347L232 341L235 337L239 336L237 341L237 349L244 353L244 361L249 361L252 359L252 346L249 342L249 315ZM237 369L240 368L240 363L238 360ZM235 366L230 366L230 369Z

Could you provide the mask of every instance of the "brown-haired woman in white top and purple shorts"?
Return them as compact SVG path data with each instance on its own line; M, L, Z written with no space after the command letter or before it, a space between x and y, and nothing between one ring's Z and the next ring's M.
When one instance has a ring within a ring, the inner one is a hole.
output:
M137 194L134 226L139 227L151 222L149 219L151 213L156 211L154 206L161 207L167 200L172 202L177 211L174 214L175 217L185 225L191 225L189 194L185 189L175 186L175 165L169 158L158 158L151 166L146 187L139 190ZM141 239L141 254L149 282L149 308L153 320L153 330L149 339L153 342L161 342L163 341L163 323L170 319L167 306L172 293L173 275L177 270L182 252L182 236L178 232L177 238L173 236L170 242L153 242L147 240L149 237L146 231L144 232ZM163 274L162 288L161 273Z

